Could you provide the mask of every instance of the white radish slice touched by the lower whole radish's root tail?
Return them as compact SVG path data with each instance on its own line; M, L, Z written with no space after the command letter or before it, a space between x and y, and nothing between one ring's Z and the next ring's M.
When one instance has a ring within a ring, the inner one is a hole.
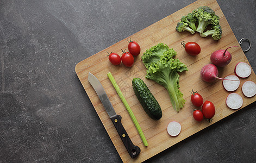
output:
M224 89L226 89L229 92L235 91L236 89L238 89L238 87L240 85L240 80L238 77L236 77L234 75L230 75L224 79L230 79L230 80L223 80L222 84L224 86Z

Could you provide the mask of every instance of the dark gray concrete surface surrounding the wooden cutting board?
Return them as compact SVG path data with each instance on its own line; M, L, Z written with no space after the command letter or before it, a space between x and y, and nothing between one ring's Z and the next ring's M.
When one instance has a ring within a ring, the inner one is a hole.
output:
M195 1L0 1L0 162L121 162L74 72ZM217 1L256 70L256 2ZM255 102L146 162L255 162Z

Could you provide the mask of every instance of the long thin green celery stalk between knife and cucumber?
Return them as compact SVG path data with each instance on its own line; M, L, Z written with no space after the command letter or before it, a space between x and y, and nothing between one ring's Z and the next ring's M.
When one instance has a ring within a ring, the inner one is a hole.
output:
M138 130L138 132L139 132L139 134L140 134L140 137L141 137L141 140L142 140L142 142L143 142L143 145L144 145L144 146L148 146L146 137L145 137L145 135L143 134L142 129L140 128L140 124L139 124L138 121L136 120L136 118L135 118L135 116L134 116L134 114L133 114L132 109L130 109L129 104L128 104L127 101L126 101L126 98L124 98L123 93L122 93L121 90L119 89L119 87L118 87L118 85L117 85L117 83L116 83L116 80L114 79L114 77L113 77L113 75L111 74L111 72L109 72L107 75L108 75L108 78L109 78L110 82L111 82L112 85L115 87L115 90L116 90L118 96L121 98L121 100L122 100L124 106L126 106L126 109L127 109L128 113L129 113L130 117L132 118L133 123L135 124L136 129Z

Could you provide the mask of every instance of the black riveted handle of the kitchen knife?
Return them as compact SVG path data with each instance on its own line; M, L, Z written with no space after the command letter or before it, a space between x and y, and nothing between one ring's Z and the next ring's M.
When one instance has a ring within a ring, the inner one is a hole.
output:
M128 136L126 130L123 128L123 125L121 123L121 116L116 115L114 117L111 117L110 119L114 123L114 126L116 127L116 130L121 137L124 146L126 146L126 149L130 155L131 158L136 158L140 154L140 147L134 146L132 140L130 140L130 137Z

